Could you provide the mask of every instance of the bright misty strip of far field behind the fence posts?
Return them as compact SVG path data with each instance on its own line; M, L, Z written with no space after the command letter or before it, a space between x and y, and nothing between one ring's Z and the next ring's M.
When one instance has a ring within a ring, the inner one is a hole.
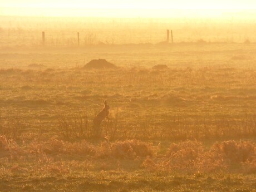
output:
M226 15L226 16L225 16ZM239 13L238 13L239 16ZM255 21L224 14L220 18L62 18L0 17L1 47L41 46L42 32L50 47L156 44L166 40L166 29L173 30L175 43L181 42L255 42Z

